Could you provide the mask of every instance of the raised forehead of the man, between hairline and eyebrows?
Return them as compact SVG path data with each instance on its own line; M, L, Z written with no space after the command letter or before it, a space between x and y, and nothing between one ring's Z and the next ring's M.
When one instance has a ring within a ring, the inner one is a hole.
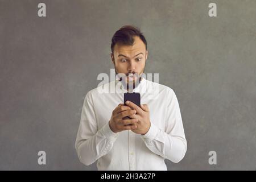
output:
M126 56L133 56L138 52L146 52L146 46L138 36L134 37L134 44L132 46L126 46L118 43L114 46L115 55L122 54Z

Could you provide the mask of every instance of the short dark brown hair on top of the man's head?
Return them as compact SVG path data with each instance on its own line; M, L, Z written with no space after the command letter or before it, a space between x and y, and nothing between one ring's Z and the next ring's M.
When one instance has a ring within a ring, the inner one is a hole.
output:
M139 28L137 28L137 27L127 25L127 26L122 26L113 35L112 43L111 43L112 53L114 52L114 46L117 43L119 43L121 45L125 45L125 46L133 46L134 36L139 36L139 38L141 38L141 40L145 44L146 50L147 50L147 41L146 41L144 35L142 34L141 30L139 30Z

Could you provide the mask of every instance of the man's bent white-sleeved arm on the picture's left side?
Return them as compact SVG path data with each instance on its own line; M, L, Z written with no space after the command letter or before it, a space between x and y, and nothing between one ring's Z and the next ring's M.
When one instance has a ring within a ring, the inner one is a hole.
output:
M76 151L81 163L89 166L108 154L118 133L110 130L109 122L98 130L92 96L88 93L82 105L79 130L76 138Z

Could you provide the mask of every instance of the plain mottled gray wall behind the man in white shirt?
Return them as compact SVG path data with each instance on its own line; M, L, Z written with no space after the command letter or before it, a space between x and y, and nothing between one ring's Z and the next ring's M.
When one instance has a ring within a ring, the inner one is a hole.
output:
M148 42L146 72L180 104L188 150L168 170L255 170L255 22L254 0L0 1L0 169L96 169L75 151L82 102L113 68L114 32L133 24Z

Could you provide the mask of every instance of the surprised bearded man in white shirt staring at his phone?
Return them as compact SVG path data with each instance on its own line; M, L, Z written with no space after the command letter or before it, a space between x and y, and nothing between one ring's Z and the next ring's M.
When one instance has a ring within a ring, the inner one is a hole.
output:
M82 106L75 144L79 159L86 166L97 160L98 170L167 170L164 159L177 163L187 151L174 90L134 76L142 75L148 55L146 39L138 28L121 27L112 38L111 48L115 72L127 76L127 85L133 83L132 92L141 91L142 105L123 104L123 93L131 92L125 84L119 93L90 90ZM152 97L155 88L158 95Z

